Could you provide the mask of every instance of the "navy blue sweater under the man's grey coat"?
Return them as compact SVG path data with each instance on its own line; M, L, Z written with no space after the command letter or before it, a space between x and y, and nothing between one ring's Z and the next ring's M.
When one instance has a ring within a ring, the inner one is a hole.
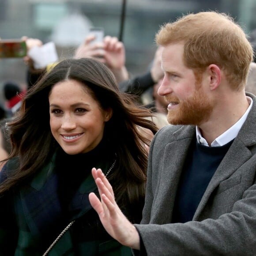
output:
M181 173L172 223L192 221L211 178L232 143L233 140L222 147L207 147L194 140Z

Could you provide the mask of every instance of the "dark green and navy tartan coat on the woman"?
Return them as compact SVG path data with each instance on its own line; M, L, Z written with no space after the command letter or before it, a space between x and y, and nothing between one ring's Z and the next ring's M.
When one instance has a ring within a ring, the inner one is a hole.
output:
M0 256L41 256L68 225L62 219L54 160L55 157L26 184L0 197ZM17 158L5 164L0 182L16 164ZM120 245L104 230L88 199L92 191L98 190L89 175L70 206L72 210L82 208L82 211L71 219L75 220L74 224L53 246L49 256L132 255L130 248Z

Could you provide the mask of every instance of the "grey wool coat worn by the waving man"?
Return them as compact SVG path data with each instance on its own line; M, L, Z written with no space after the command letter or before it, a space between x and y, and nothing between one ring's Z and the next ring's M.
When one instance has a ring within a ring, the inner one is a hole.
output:
M169 224L196 129L170 125L154 136L143 219L135 225L148 256L256 256L256 97L247 95L252 109L191 222Z

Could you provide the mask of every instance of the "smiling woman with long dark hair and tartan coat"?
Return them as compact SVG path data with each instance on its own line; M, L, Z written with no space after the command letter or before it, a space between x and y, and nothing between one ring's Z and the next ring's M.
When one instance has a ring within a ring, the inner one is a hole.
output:
M28 90L8 123L0 172L0 255L132 255L104 230L88 195L101 168L118 205L139 223L150 110L118 90L96 60L63 60Z

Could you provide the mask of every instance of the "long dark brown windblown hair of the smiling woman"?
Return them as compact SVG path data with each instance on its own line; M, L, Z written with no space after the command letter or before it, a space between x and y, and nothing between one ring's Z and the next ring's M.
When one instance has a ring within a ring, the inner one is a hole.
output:
M149 146L151 141L137 127L149 129L153 134L158 128L146 119L152 116L151 111L136 105L132 95L121 93L113 73L89 58L61 61L27 92L18 115L8 123L10 158L18 157L19 166L0 184L0 194L32 177L51 159L57 143L49 125L49 93L56 83L65 79L80 81L102 109L113 109L104 131L117 150L117 168L109 175L109 181L115 184L117 202L138 201L144 196L147 173L145 144Z

